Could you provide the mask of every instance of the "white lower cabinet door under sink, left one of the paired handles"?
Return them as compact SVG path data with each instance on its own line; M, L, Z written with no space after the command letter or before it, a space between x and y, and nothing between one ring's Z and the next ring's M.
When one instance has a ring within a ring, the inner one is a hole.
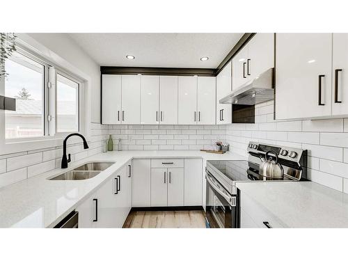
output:
M97 190L98 218L95 225L97 228L118 228L118 209L116 204L117 182L116 175L106 181Z

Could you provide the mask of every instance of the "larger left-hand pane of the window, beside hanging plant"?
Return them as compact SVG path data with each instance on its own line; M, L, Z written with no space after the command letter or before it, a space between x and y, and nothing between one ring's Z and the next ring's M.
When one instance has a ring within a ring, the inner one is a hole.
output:
M5 67L5 96L16 99L16 111L5 113L5 138L44 136L45 65L15 52Z

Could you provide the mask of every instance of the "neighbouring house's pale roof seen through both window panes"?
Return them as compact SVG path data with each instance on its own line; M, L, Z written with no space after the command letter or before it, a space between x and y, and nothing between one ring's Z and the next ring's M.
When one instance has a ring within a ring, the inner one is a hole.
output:
M73 101L58 102L58 113L60 115L74 115L76 105ZM16 111L6 111L8 114L41 114L42 101L38 100L18 100L16 99Z

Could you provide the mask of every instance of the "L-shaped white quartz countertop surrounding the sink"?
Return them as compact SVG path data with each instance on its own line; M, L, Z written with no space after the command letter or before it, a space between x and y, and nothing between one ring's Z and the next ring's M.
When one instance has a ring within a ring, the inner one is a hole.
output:
M191 150L122 151L100 153L69 164L68 168L31 177L0 189L0 228L52 228L102 183L134 158L203 158L242 160L233 152L217 155ZM116 161L89 180L47 180L88 161Z

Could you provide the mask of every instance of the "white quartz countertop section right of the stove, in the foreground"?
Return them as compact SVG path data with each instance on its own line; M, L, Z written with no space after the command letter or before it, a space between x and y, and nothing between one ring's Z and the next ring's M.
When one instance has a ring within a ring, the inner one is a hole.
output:
M348 228L348 194L315 182L237 182L288 228Z

